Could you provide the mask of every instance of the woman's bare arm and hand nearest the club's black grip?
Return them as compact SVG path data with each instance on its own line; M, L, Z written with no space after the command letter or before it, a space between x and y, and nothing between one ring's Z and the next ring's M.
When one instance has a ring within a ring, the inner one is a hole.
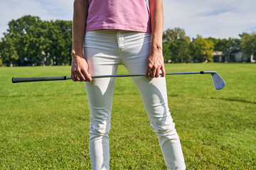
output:
M91 81L88 73L88 64L82 55L82 42L85 37L85 25L87 20L87 0L74 1L73 13L73 46L71 78L73 81Z

